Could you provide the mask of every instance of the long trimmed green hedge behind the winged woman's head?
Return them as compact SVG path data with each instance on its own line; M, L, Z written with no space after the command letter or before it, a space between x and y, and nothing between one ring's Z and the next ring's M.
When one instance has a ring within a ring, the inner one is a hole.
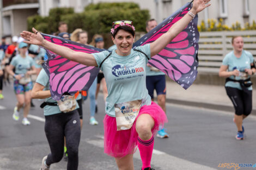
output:
M132 20L136 32L145 32L145 22L149 18L149 11L139 9L136 3L98 3L88 5L82 13L74 13L72 8L54 8L48 17L32 16L27 22L29 30L35 27L52 34L58 30L59 21L65 21L70 33L82 28L87 30L90 39L94 34L109 33L112 22L117 20Z

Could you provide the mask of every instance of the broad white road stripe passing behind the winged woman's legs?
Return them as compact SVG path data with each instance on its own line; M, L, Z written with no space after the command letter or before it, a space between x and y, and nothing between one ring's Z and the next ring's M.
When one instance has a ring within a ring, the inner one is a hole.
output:
M93 144L96 147L103 148L104 142L102 137L97 135L100 139L97 140L89 140L88 138L82 141L85 141L89 144ZM141 156L139 155L138 149L133 155L134 158L141 160ZM161 152L159 150L154 149L151 164L156 167L160 167L162 170L180 170L180 169L190 169L190 170L217 170L215 168L211 168L208 166L200 165L199 163L194 163L185 159L177 158L175 156L169 155L167 153Z

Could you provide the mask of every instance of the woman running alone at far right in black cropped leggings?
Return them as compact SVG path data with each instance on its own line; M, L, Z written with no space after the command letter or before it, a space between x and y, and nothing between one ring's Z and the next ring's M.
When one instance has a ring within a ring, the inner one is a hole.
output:
M220 68L220 77L225 77L225 90L235 108L234 122L237 127L237 140L243 140L245 129L243 119L252 111L252 82L255 74L253 55L243 49L242 36L231 40L233 51L225 55Z

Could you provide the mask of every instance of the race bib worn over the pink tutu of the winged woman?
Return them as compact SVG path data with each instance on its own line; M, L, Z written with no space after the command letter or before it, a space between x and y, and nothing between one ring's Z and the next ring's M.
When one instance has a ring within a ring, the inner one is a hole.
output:
M114 104L117 130L130 129L139 114L142 100Z

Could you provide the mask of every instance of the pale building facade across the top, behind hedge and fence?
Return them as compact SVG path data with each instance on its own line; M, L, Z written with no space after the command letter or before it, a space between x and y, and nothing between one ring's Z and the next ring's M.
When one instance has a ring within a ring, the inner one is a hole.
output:
M161 22L191 0L0 0L0 36L18 35L27 29L28 16L47 16L51 8L72 7L75 12L82 12L88 4L99 2L135 2L141 9L148 9L151 18ZM199 14L199 23L208 18L223 18L229 27L236 21L243 27L244 23L256 20L255 0L212 0L211 4Z

